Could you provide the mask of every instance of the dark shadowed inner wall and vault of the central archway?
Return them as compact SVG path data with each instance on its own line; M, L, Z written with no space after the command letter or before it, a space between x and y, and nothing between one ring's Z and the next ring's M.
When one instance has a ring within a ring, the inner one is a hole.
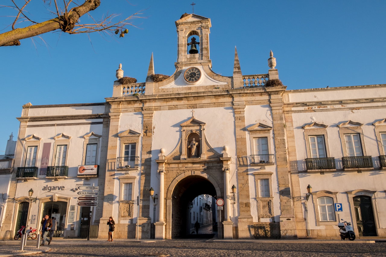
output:
M181 179L176 184L171 200L171 238L182 238L190 235L191 203L201 194L208 194L217 199L215 186L202 176L191 175ZM205 203L201 202L202 204Z

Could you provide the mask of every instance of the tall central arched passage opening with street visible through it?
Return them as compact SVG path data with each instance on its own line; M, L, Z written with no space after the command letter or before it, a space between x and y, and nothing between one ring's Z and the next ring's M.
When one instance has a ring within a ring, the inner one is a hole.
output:
M213 184L202 176L191 175L181 179L173 189L171 199L171 238L184 238L192 235L193 212L202 227L207 220L212 220L212 203L208 203L208 197L217 199L216 189ZM201 200L200 200L201 198ZM206 200L205 200L206 198ZM197 202L198 201L198 202ZM198 213L197 213L198 212ZM208 224L205 224L208 225ZM210 229L212 224L210 224ZM208 231L209 231L208 230ZM213 230L211 230L213 232ZM207 237L212 238L214 234L208 232ZM201 235L205 237L204 235Z

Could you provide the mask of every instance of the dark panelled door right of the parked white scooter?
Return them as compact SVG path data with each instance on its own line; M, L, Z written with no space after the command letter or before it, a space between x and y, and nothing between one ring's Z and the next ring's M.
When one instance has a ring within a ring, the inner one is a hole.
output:
M370 196L355 196L353 198L357 228L360 237L376 237L374 213Z

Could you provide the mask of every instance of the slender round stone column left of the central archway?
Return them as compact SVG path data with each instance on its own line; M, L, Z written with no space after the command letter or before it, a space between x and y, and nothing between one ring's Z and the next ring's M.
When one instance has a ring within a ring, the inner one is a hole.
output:
M155 238L164 239L165 238L165 221L164 221L164 202L165 202L165 157L163 154L159 156L158 162L158 173L159 173L159 201L158 201L158 221L154 222L156 227Z

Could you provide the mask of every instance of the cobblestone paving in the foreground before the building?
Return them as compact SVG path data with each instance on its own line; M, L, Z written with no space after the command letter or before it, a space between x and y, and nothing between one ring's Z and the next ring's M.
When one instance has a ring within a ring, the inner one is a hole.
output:
M220 242L207 239L116 242L83 240L68 241L50 245L51 251L39 257L120 257L120 256L188 256L188 257L343 257L386 256L386 243L264 243L263 240L251 242ZM80 241L83 241L80 242ZM165 255L162 255L165 254Z

